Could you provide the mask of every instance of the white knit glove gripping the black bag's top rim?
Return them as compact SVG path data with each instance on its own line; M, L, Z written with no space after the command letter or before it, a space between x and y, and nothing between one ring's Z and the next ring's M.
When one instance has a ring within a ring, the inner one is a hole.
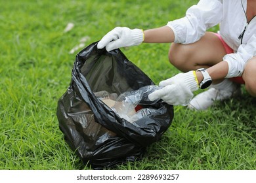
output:
M102 37L97 44L97 48L102 49L106 46L106 50L110 52L117 48L139 45L142 41L144 41L142 29L116 27Z

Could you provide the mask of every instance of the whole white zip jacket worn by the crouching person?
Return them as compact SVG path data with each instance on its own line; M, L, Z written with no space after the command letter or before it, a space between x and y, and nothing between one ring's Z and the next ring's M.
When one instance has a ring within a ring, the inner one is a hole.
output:
M228 62L226 78L241 76L245 63L256 56L256 17L247 24L246 7L246 0L201 0L188 8L184 18L167 25L173 29L176 43L190 44L198 41L207 29L220 24L221 37L234 50L234 54L223 58ZM238 39L245 26L242 39Z

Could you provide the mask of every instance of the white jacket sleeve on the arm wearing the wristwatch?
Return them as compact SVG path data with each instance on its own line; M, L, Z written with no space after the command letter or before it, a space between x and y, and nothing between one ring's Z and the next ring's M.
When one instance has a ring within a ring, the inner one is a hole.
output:
M247 44L241 44L236 54L227 54L223 60L228 62L228 74L226 78L242 76L245 63L256 56L256 35L254 34Z

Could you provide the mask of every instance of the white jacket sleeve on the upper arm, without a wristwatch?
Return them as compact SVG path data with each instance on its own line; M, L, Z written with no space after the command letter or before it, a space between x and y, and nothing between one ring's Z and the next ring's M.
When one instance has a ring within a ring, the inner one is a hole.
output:
M221 22L223 5L220 0L201 0L186 11L186 16L167 23L173 29L175 43L196 42L205 31Z

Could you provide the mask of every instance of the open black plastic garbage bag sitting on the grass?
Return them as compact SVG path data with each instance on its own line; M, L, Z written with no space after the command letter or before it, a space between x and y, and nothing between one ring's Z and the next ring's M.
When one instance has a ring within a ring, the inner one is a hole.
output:
M103 169L142 158L146 147L158 141L171 125L173 106L161 100L149 101L148 93L156 90L154 82L121 50L106 52L98 50L96 44L77 54L70 86L58 100L56 114L70 148L86 165ZM114 93L121 96L119 99L139 93L135 109L149 112L129 122L98 93Z

